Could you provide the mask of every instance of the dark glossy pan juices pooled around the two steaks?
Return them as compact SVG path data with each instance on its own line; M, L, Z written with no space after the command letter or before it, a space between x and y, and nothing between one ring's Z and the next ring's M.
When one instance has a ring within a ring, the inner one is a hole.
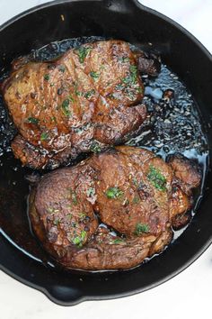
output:
M39 50L31 50L28 57L29 60L36 61L55 59L66 50L75 48L84 42L98 40L103 39L83 37L57 41ZM7 74L2 71L0 81ZM208 169L208 143L202 131L199 107L181 80L165 65L162 65L158 77L144 76L142 78L146 87L143 102L147 105L150 116L142 132L131 138L127 144L153 150L163 159L178 151L199 162L203 178L201 187L194 195L191 212L193 216L203 194ZM173 93L171 99L165 97L167 90ZM7 114L2 96L0 96L0 118L0 232L29 258L55 268L57 264L51 260L34 237L28 217L30 184L27 177L39 173L22 167L21 162L13 157L10 144L16 134L16 129ZM77 161L86 156L89 155L84 154ZM69 163L70 166L74 164L75 161ZM187 227L188 225L180 231L175 231L172 242Z

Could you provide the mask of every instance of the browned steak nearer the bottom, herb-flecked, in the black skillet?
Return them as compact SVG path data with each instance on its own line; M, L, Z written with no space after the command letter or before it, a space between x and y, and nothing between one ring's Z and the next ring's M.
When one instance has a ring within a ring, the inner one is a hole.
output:
M66 268L137 266L171 242L172 225L185 223L190 190L200 182L192 161L177 155L170 163L121 146L45 175L31 193L34 232ZM187 177L176 176L183 166Z

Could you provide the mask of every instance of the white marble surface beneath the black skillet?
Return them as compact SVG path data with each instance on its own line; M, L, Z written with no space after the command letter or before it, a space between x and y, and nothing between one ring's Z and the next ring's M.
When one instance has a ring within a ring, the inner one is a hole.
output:
M43 0L0 0L0 24ZM46 1L47 2L47 1ZM212 52L212 0L141 0L170 16ZM204 212L202 212L204 214ZM110 301L90 301L74 307L54 305L30 287L0 272L0 318L4 319L209 319L211 311L212 247L180 275L145 293Z

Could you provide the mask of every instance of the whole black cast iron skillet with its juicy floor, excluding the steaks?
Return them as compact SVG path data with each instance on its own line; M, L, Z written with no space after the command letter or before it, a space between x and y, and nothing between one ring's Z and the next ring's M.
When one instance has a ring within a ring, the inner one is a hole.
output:
M196 196L197 212L193 214L192 222L180 237L175 233L175 241L162 254L128 271L67 273L55 267L31 236L26 214L29 185L24 179L31 170L22 169L19 161L13 159L9 144L15 130L2 107L1 268L27 285L39 288L60 305L128 296L155 287L189 266L212 239L212 180L208 161L212 141L212 59L208 51L176 23L138 5L136 0L57 1L31 9L0 28L1 74L6 74L10 62L20 55L34 50L32 58L49 59L77 44L76 40L56 41L82 36L119 38L161 55L160 76L156 80L144 78L146 104L150 111L156 109L154 126L151 129L151 123L148 123L147 133L129 143L151 147L162 156L173 150L184 151L185 155L199 160L204 176L206 170L208 174L204 187L202 185ZM93 39L83 39L87 40ZM38 50L49 42L54 43ZM175 91L172 103L165 104L161 98L166 88Z

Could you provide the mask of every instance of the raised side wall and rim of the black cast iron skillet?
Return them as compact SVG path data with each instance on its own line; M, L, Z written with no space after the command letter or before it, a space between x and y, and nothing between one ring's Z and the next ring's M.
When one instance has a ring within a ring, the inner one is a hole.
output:
M180 25L139 5L137 0L64 0L37 6L0 28L0 57L4 57L4 65L9 65L15 57L50 41L82 35L123 39L135 44L152 42L198 102L212 150L212 57ZM187 268L212 242L211 163L208 167L204 197L192 223L174 244L142 268L99 273L58 272L29 259L2 234L0 268L44 292L59 305L128 296L155 287Z

